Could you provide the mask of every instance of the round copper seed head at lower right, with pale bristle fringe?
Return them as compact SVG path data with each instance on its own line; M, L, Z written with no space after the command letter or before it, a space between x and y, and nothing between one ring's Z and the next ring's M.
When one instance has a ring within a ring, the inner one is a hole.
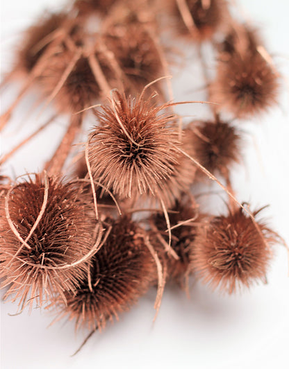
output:
M254 215L256 215L255 212ZM192 268L214 289L233 293L241 286L265 282L276 234L237 209L212 218L195 239Z

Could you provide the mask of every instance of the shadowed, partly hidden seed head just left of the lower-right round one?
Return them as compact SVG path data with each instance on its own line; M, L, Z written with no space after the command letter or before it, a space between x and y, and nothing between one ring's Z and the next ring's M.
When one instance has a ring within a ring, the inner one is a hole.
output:
M175 255L172 255L172 252L167 252L163 246L163 241L166 243L169 241L165 216L157 213L150 218L150 240L160 259L167 267L167 277L175 280L183 287L185 286L185 277L190 273L190 257L197 234L197 224L200 219L201 215L195 201L185 195L181 200L176 201L176 205L170 212L171 248L176 253L178 257L176 258ZM178 226L179 223L182 223L182 225Z

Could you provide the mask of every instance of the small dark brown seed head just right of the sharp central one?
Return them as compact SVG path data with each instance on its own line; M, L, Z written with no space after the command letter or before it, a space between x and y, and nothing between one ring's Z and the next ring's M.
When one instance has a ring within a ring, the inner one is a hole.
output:
M190 137L192 156L213 174L227 175L240 157L240 135L236 128L222 121L193 121L185 129ZM198 171L198 176L204 174Z

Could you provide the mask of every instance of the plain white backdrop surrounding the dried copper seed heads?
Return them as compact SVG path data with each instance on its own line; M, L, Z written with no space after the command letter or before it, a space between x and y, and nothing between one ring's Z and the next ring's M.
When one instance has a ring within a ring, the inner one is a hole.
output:
M9 69L24 28L44 8L58 9L63 3L57 0L2 1L2 75ZM283 75L283 86L279 106L263 117L242 122L240 128L246 137L244 164L233 172L233 187L238 199L248 201L252 207L270 204L264 215L289 243L289 3L287 0L239 0L238 3L239 15L261 29L267 49ZM195 67L198 62L193 49L187 50L185 57L187 67L174 74L176 100L201 100L204 97L196 92L198 86L194 84L199 71ZM1 112L14 92L11 88L3 94ZM9 128L1 135L1 153L45 121L45 114L41 118L27 114L26 105L33 105L31 101L32 94L24 99ZM179 111L195 117L203 114L197 105ZM5 170L21 175L41 169L43 161L56 147L56 132L60 134L65 121L65 118L56 119L44 134L15 155ZM215 212L218 212L219 205L216 206ZM73 358L70 355L88 332L76 334L73 323L66 321L48 327L53 316L40 309L33 309L31 315L24 311L19 316L10 316L8 314L17 311L17 306L0 302L1 368L286 369L289 367L288 259L283 246L276 246L274 251L268 284L253 286L242 294L224 296L195 283L190 299L177 287L169 286L154 325L156 291L151 289L129 313L119 317L119 322L108 324L101 334L94 334Z

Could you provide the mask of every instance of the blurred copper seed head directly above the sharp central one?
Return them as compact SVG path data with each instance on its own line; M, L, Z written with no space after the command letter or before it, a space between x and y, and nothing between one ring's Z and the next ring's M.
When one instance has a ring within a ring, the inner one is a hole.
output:
M139 94L145 85L163 76L156 44L142 24L115 24L106 30L103 38L124 73L126 93Z

